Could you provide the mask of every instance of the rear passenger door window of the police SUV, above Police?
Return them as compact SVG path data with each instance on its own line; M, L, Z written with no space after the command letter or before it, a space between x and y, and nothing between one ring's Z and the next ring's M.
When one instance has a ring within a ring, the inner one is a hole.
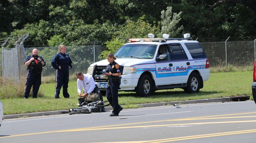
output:
M172 59L173 60L183 60L188 59L187 54L180 44L169 44L172 51Z

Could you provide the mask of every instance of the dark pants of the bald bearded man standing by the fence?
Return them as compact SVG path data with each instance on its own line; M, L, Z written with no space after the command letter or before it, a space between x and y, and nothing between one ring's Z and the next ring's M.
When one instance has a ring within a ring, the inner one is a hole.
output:
M33 86L33 98L37 98L37 93L41 85L41 73L33 73L28 70L27 80L26 80L26 88L24 91L24 97L28 98L30 90Z

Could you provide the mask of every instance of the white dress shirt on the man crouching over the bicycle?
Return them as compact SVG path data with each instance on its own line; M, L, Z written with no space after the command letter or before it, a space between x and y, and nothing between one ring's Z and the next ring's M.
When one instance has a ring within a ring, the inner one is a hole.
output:
M77 79L77 92L81 92L81 87L83 88L84 90L84 93L87 92L88 94L90 94L93 89L96 87L95 86L95 82L92 78L91 75L89 74L83 74L83 80L79 80ZM82 93L82 92L81 92Z

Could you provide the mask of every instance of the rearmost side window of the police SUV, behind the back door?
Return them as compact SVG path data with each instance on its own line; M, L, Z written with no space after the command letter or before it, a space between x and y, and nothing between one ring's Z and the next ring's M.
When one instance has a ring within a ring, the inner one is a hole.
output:
M199 43L185 43L193 59L206 58L206 55Z

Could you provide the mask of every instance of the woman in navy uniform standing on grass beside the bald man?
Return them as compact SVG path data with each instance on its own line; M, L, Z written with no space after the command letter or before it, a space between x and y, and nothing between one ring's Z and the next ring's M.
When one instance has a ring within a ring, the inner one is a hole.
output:
M72 61L68 54L66 54L66 46L59 46L60 53L56 54L52 59L52 66L56 70L56 87L55 87L55 98L60 98L60 91L63 87L64 98L69 98L67 92L68 80L69 80L69 69L72 68Z

